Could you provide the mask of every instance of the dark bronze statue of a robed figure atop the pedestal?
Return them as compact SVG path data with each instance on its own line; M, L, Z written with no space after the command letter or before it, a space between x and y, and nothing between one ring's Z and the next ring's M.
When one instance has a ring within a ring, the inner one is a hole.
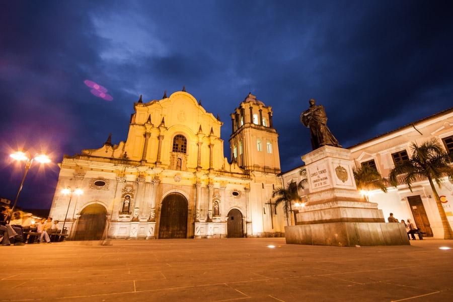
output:
M324 106L316 105L314 99L310 99L309 103L310 108L300 114L300 122L310 128L313 149L324 145L341 147L327 127L327 115Z

